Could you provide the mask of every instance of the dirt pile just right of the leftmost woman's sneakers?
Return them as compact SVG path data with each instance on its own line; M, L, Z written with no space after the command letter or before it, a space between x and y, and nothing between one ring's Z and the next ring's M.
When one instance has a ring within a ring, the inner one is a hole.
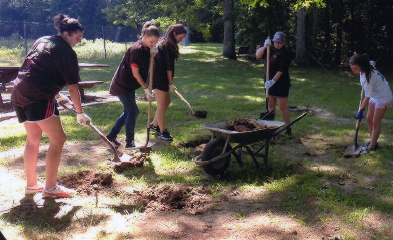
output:
M80 170L75 174L59 176L57 181L59 184L77 190L80 195L91 195L108 188L113 183L113 177L112 174Z

